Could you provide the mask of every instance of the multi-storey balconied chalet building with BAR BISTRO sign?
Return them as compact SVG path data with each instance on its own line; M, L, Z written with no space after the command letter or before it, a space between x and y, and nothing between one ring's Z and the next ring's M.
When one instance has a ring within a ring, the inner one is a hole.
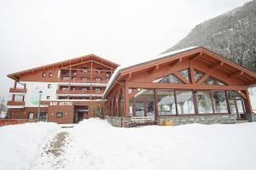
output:
M10 119L73 123L102 110L102 94L119 65L95 54L9 74ZM41 98L40 98L41 96Z

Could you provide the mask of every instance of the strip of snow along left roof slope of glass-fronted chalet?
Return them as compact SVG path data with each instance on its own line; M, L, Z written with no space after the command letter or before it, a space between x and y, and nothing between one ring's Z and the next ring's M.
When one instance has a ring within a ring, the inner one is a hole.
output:
M189 48L178 49L178 50L175 50L175 51L166 53L166 54L159 54L159 55L156 55L156 56L154 55L154 56L148 58L148 60L142 61L142 62L140 62L140 63L119 65L119 67L113 72L112 77L110 77L110 79L109 79L109 81L108 81L108 86L107 86L107 88L105 89L105 91L104 91L104 93L103 93L103 97L105 97L105 94L107 94L109 88L111 88L111 86L112 86L114 80L115 80L116 77L119 75L119 72L120 72L120 71L125 70L125 69L130 68L130 67L137 66L137 65L144 65L144 64L146 64L146 63L148 63L148 62L152 62L152 61L157 60L157 59L162 59L162 58L168 57L168 56L170 56L170 55L183 53L183 52L185 52L185 51L188 51L188 50L194 49L194 48L199 48L199 47L198 47L198 46L195 46L195 47L189 47Z

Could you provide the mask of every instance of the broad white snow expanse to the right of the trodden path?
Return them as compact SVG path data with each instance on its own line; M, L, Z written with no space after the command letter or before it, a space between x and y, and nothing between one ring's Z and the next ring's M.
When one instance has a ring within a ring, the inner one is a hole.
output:
M112 127L90 119L70 132L64 169L256 169L256 123Z

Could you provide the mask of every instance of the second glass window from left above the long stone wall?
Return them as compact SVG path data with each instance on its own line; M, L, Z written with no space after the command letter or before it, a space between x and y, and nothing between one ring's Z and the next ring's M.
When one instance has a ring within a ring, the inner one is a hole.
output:
M177 90L177 113L195 114L192 91Z

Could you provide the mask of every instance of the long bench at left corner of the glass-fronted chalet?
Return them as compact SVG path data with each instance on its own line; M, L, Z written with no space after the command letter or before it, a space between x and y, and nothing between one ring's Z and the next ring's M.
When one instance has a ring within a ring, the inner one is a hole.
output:
M154 116L132 116L131 122L127 123L128 127L137 127L137 125L155 125Z

